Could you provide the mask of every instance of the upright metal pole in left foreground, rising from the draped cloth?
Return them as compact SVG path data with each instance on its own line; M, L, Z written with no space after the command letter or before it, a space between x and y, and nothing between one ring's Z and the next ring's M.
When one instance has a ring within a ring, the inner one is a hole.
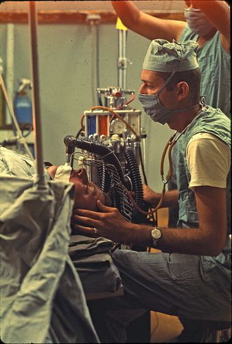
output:
M30 26L30 46L32 57L32 110L33 127L35 133L35 153L37 167L38 189L44 189L47 185L43 165L43 144L40 117L40 99L39 99L39 80L38 80L38 52L37 52L37 15L35 1L29 1L29 26Z

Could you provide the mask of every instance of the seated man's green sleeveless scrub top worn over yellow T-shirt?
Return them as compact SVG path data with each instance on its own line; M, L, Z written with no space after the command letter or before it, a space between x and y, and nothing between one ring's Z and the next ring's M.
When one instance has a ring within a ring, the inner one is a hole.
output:
M191 175L187 168L186 148L187 144L196 133L211 133L218 137L222 142L231 147L231 132L229 118L225 116L220 109L206 106L200 111L200 114L194 118L187 131L178 141L177 164L176 164L176 182L178 187L179 216L178 226L183 228L196 228L199 226L198 213L196 208L196 198L194 191L189 189L188 185ZM218 157L220 159L220 157ZM231 173L227 176L227 234L231 233ZM228 246L228 247L227 247ZM222 266L230 266L231 249L226 242L224 250L218 257L202 257L207 261L216 264L220 262Z

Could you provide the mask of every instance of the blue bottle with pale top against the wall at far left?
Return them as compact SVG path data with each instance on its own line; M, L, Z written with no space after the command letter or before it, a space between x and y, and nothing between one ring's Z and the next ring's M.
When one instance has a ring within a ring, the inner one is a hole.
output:
M28 88L32 88L31 81L25 78L21 79L21 84L14 97L14 114L19 125L23 125L23 127L27 125L27 127L32 128L32 100L27 95L26 89Z

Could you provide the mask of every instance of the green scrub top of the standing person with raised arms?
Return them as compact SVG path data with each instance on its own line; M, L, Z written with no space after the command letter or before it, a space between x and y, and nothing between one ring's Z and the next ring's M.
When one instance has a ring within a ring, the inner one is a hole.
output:
M187 25L181 34L180 42L198 41L198 34ZM197 51L201 73L200 93L206 96L206 103L219 107L231 117L231 56L222 47L220 32L209 39Z

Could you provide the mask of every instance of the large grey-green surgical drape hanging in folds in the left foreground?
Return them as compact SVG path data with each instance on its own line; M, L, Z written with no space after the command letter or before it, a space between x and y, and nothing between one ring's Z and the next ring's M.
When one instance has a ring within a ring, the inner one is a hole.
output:
M68 255L73 185L3 175L0 194L1 339L99 343Z

